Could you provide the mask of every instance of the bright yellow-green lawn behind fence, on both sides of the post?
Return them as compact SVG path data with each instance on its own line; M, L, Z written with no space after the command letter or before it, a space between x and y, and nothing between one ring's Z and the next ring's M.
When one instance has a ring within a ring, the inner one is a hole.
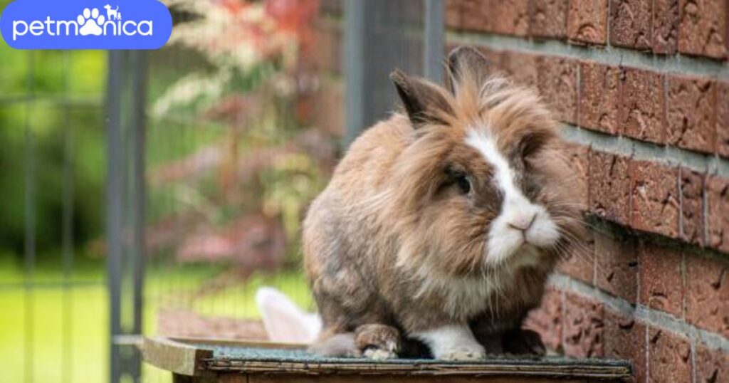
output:
M109 359L109 301L101 268L80 268L85 280L98 283L69 290L22 287L0 289L0 382L106 382ZM204 297L189 298L201 283L211 280L221 266L151 265L145 287L146 333L157 331L161 305L186 306L205 315L258 317L253 296L261 285L276 286L311 309L305 278L297 271L255 274L246 282ZM40 268L36 276L61 279L58 268ZM22 268L0 264L0 282L22 281ZM144 382L169 382L164 371L144 367Z

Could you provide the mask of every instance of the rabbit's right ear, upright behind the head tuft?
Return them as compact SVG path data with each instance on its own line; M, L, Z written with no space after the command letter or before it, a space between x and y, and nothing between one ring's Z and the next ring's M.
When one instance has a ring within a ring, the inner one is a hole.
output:
M456 47L448 54L449 74L445 77L446 88L455 94L461 81L472 81L481 85L486 82L492 70L491 61L476 48Z

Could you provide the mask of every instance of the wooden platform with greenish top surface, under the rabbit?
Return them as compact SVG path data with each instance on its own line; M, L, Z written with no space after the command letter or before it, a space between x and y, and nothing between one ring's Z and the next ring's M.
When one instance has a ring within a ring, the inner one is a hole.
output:
M492 357L483 362L324 358L300 344L145 338L144 361L175 382L624 382L620 360Z

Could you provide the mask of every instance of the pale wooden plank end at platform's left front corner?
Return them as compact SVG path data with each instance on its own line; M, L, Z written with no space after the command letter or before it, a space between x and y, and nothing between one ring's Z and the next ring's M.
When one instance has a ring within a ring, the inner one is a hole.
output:
M203 360L213 357L210 349L201 349L168 338L144 338L141 346L144 361L174 374L200 376L206 374Z

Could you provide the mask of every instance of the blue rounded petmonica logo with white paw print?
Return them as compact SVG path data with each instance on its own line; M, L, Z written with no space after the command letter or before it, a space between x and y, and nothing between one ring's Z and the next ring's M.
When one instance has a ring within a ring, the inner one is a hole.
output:
M15 49L158 49L172 33L157 0L15 0L0 32ZM123 15L123 17L122 17Z

